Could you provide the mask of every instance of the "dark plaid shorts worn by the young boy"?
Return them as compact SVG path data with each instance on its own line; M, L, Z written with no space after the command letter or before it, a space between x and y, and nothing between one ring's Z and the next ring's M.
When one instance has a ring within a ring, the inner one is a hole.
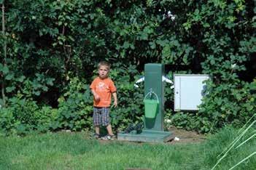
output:
M109 108L93 107L93 125L94 126L109 125Z

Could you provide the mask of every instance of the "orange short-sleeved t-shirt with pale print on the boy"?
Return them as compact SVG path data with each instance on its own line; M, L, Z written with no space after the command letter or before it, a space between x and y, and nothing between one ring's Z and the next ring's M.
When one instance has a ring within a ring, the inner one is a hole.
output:
M101 79L99 77L93 80L93 83L90 84L90 89L94 89L100 97L98 102L93 99L93 106L96 107L109 107L112 93L117 91L114 82L110 78Z

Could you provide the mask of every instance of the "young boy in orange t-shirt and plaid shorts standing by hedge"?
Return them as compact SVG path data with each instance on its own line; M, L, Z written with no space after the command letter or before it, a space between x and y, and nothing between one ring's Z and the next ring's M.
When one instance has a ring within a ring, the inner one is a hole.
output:
M109 76L110 64L108 62L98 63L98 77L90 84L90 90L93 93L93 125L96 133L94 137L100 137L100 126L106 126L108 134L101 139L114 139L112 127L109 120L109 106L113 94L114 106L117 107L117 88Z

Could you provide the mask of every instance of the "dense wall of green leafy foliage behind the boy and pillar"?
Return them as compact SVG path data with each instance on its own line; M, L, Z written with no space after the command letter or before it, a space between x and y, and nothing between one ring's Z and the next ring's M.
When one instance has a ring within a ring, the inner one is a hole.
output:
M4 134L90 129L88 86L100 60L112 63L118 89L115 130L141 120L143 92L133 83L147 62L166 64L170 78L173 73L212 77L198 113L173 113L173 94L166 89L171 124L209 132L225 124L241 126L255 113L254 1L0 2Z

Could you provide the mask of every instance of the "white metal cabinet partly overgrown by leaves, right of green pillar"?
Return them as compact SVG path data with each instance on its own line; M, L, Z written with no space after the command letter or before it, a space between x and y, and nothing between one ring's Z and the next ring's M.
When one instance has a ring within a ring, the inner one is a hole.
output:
M209 75L174 74L174 111L198 110Z

